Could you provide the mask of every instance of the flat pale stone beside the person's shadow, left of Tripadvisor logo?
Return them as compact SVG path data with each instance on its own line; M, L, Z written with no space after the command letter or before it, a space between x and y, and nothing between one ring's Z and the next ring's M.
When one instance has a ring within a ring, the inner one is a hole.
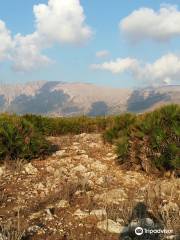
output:
M107 219L97 223L97 228L103 232L116 233L120 234L125 231L124 226L121 226L119 223L114 222L111 219Z

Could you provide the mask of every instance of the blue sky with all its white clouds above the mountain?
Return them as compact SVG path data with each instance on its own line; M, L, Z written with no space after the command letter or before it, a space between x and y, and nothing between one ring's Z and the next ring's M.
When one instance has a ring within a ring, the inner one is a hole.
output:
M180 3L1 0L0 82L180 82Z

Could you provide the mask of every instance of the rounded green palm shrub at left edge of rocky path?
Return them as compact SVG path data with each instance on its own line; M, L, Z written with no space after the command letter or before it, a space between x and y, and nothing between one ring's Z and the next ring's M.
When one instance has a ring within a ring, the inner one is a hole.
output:
M0 159L32 159L50 150L50 144L27 120L0 115Z

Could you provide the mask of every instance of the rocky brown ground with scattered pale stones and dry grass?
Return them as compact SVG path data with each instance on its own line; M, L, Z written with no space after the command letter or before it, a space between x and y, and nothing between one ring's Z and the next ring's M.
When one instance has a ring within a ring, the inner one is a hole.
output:
M0 240L136 239L142 223L179 239L180 179L121 169L100 134L50 141L53 156L0 167Z

